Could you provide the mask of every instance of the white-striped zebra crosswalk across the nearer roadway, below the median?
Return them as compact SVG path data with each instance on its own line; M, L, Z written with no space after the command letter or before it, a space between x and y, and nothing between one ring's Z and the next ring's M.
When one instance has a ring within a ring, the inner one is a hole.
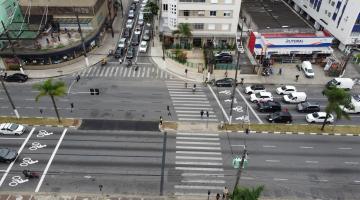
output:
M177 133L175 170L181 180L174 185L176 196L207 196L223 191L223 158L218 133Z

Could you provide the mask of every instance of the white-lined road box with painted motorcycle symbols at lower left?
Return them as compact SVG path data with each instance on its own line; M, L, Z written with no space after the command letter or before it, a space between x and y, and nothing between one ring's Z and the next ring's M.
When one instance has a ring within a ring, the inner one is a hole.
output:
M8 173L2 176L0 189L38 192L66 130L51 127L32 128L18 150L17 159L9 165ZM39 177L26 178L23 170L35 172Z

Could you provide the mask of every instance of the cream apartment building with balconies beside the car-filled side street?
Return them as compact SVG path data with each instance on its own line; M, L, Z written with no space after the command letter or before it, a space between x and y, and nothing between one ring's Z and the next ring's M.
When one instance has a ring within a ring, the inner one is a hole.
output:
M180 44L231 45L238 29L240 6L241 0L162 0L160 32L173 38L177 25L188 23L192 38L180 38Z

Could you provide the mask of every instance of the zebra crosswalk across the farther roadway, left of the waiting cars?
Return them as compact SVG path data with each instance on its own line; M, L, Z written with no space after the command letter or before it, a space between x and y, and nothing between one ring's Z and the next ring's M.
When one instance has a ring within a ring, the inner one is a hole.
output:
M185 82L181 80L167 80L172 105L179 121L197 121L197 122L216 122L216 114L203 88L197 87L196 92L192 92L192 85L188 84L185 88ZM200 112L204 111L201 116ZM206 116L209 113L209 117Z

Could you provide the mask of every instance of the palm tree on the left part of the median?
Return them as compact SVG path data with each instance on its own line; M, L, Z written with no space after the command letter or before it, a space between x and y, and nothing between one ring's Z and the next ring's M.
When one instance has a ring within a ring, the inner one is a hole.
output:
M35 101L38 102L40 97L43 96L50 96L51 101L53 103L56 116L58 118L59 123L61 122L59 111L57 109L56 103L55 103L55 97L64 96L65 93L65 83L63 81L57 81L55 83L52 82L52 79L46 80L44 83L38 83L35 84L34 89L39 90L39 94L35 97Z

